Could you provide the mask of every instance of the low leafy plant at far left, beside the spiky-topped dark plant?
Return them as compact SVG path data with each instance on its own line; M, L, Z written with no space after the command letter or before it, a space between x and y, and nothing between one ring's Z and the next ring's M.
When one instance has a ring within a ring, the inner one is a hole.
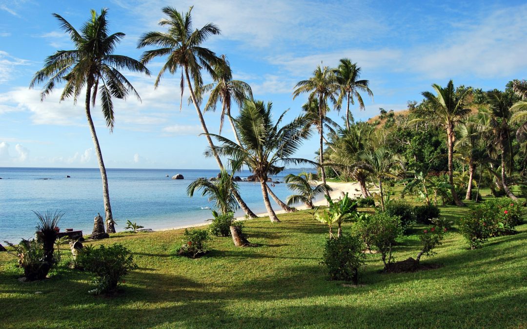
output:
M24 276L27 281L43 280L50 272L52 264L46 262L41 242L35 239L23 239L18 245L8 241L4 242L16 251L14 256L18 258L18 266L24 269Z

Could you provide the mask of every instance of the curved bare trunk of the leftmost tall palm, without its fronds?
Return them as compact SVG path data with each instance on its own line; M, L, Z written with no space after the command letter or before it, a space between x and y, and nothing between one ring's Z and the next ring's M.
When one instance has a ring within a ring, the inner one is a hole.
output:
M90 133L92 134L93 146L95 147L95 155L97 156L97 162L99 162L99 170L101 171L104 214L106 216L106 232L115 233L112 207L110 205L110 192L108 191L108 176L106 176L106 168L104 167L104 161L102 159L101 146L99 145L99 139L97 138L97 134L95 133L95 126L93 125L92 115L90 113L90 98L92 86L93 83L91 81L89 81L86 86L86 119L88 120Z

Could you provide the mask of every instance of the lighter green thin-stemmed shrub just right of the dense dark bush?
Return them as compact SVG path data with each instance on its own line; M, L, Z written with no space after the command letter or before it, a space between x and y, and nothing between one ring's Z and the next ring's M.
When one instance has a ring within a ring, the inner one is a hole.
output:
M401 218L379 212L357 222L355 227L368 249L375 247L380 252L384 270L387 271L389 265L394 262L392 246L395 239L402 234Z

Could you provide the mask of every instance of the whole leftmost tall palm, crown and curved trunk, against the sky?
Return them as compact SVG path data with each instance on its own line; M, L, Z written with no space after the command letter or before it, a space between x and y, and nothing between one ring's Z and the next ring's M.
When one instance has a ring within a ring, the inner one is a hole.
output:
M141 100L132 84L118 70L126 69L147 75L150 75L150 72L142 63L133 58L113 54L116 44L124 37L124 33L118 32L109 35L106 13L107 9L102 9L100 14L92 10L91 18L84 23L80 31L77 31L61 15L53 14L60 22L61 28L69 34L75 49L57 51L48 56L44 67L35 73L30 88L45 82L41 93L41 101L43 101L58 84L65 82L60 100L64 101L64 99L73 96L74 103L85 90L85 113L103 183L106 230L109 233L115 233L108 191L108 177L106 176L99 139L95 133L90 103L92 107L95 106L98 93L101 98L101 110L106 120L106 126L112 131L115 119L112 97L125 99L129 93L132 93Z

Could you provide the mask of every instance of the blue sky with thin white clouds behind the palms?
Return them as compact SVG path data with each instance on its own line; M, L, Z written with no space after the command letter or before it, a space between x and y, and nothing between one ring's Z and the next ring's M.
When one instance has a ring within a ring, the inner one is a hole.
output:
M249 83L257 99L272 101L276 113L290 108L289 118L307 99L292 101L295 84L321 62L336 66L343 57L362 67L375 96L367 99L366 111L353 108L356 119L376 115L379 107L404 109L432 83L445 85L452 78L456 85L503 89L527 73L524 1L0 0L0 167L97 167L82 102L59 103L60 88L40 102L40 86L28 89L46 56L72 48L52 13L80 28L91 8L109 8L110 31L126 34L115 53L139 58L139 36L162 29L160 8L187 11L193 4L195 27L213 22L222 30L204 46L226 54L235 78ZM161 63L149 65L154 76ZM207 143L199 136L196 110L184 101L179 111L177 76L165 75L154 89L154 77L124 73L142 103L114 102L112 134L100 108L92 111L106 166L216 168L202 155ZM341 114L329 116L340 121ZM217 132L219 113L206 113L205 119ZM233 137L229 129L225 135ZM297 156L313 158L316 149L313 138Z

